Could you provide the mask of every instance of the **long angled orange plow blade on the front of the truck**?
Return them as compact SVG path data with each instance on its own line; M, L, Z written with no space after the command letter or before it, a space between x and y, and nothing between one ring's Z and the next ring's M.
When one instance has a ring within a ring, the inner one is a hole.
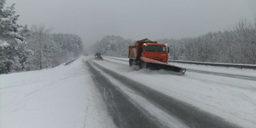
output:
M148 68L153 70L169 70L173 72L177 72L178 74L184 75L186 72L185 68L181 68L174 65L169 65L167 62L161 62L154 59L146 58L146 57L140 57L140 68Z

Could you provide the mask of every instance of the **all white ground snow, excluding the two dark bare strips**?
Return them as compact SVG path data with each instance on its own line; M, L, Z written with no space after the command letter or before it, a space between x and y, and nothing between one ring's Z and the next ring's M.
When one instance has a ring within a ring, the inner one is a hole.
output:
M115 127L85 65L86 60L239 126L256 127L256 81L196 72L181 76L164 70L136 71L126 62L127 58L103 58L82 56L68 66L0 75L0 127ZM196 65L183 67L199 69ZM249 72L248 75L256 76L255 70L221 67L201 70L238 75ZM175 117L119 84L118 79L103 71L102 74L162 122L180 125Z

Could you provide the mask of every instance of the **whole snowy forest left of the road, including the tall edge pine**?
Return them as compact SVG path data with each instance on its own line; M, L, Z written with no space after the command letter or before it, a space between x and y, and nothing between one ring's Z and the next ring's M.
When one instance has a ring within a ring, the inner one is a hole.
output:
M82 53L82 39L51 34L44 25L17 24L14 4L0 0L0 74L52 68Z

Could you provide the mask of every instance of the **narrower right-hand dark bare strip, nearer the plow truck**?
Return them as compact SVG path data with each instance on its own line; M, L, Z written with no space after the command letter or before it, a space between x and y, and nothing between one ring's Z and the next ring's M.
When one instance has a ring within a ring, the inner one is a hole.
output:
M116 78L119 82L126 85L130 89L143 95L144 98L148 99L152 103L163 108L166 113L179 118L190 127L238 127L237 125L231 124L230 122L227 122L220 117L217 117L210 113L206 113L199 108L191 106L177 99L171 98L161 92L158 92L145 85L135 82L130 78L110 71L95 62L93 62L93 65L95 65L108 75Z

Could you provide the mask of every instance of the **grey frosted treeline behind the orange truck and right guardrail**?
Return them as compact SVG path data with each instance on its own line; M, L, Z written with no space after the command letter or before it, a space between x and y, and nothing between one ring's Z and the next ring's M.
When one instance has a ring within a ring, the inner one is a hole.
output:
M141 37L143 39L145 37ZM169 59L202 62L256 64L256 21L239 21L229 30L210 32L195 38L159 39L170 47ZM105 36L96 42L93 52L127 56L133 40Z

